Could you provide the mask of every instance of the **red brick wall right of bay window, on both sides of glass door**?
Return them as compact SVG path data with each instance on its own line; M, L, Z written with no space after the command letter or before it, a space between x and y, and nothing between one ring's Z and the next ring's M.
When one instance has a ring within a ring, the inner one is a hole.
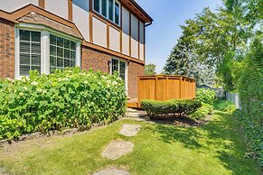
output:
M89 47L82 47L82 69L93 69L95 71L109 72L108 61L113 56L103 51L93 50ZM127 66L128 97L137 97L137 76L145 75L145 66L129 61Z

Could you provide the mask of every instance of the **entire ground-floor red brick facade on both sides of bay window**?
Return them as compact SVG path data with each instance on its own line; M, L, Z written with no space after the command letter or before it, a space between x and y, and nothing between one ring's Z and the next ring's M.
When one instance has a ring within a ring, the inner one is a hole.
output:
M14 46L14 23L0 18L0 78L14 78ZM106 52L82 46L81 68L108 73L108 62L111 58L113 56ZM133 61L128 62L128 97L137 97L137 76L144 73L144 65Z

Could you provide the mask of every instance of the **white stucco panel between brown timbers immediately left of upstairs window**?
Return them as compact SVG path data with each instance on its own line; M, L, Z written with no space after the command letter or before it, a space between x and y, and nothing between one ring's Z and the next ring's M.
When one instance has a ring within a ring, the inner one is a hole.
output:
M72 14L73 23L76 24L84 39L89 41L89 1L73 0Z

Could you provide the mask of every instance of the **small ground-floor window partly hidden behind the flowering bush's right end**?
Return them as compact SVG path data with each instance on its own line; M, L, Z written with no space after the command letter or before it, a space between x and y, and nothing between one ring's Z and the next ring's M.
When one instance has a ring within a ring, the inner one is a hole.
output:
M126 62L117 60L117 59L112 59L111 60L111 74L114 74L117 71L118 76L122 78L125 82L126 80Z

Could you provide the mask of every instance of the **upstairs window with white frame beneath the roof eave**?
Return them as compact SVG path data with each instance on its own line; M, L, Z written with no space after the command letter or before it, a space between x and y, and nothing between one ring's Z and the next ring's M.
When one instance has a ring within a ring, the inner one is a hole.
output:
M109 21L120 24L120 4L116 0L93 0L93 10Z

